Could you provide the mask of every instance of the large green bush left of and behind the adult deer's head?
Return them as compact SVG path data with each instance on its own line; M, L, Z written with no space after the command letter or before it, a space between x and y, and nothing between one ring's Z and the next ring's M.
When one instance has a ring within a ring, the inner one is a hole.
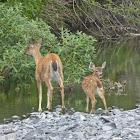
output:
M22 7L0 5L0 70L9 71L12 79L34 79L35 63L32 57L24 55L29 38L42 37L44 43L53 45L57 38L50 32L50 27L41 19L29 20L21 16ZM44 50L47 53L47 50Z

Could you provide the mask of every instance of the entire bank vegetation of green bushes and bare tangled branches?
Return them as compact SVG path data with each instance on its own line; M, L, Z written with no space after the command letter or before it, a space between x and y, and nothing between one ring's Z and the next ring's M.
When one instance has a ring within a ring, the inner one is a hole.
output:
M0 4L0 82L5 71L13 80L34 80L35 63L24 55L29 38L42 38L42 55L57 53L65 81L79 82L94 57L93 36L139 33L136 0L3 0Z

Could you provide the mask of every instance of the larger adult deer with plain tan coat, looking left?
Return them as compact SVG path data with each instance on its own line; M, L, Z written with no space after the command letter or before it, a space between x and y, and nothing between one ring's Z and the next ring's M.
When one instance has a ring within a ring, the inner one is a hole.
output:
M40 38L37 43L33 43L29 39L29 47L26 51L26 55L32 55L36 63L35 77L37 81L37 88L39 92L39 108L38 111L41 112L41 102L42 102L42 82L45 82L48 87L47 91L47 109L52 109L52 96L53 96L53 87L52 82L58 81L61 90L62 96L62 111L65 112L64 105L64 85L63 85L63 68L59 56L55 53L47 54L42 58L40 54L40 47L42 44L42 39Z

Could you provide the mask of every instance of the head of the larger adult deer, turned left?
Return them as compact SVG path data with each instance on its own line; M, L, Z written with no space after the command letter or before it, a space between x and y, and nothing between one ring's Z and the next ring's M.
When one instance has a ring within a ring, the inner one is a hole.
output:
M38 40L37 43L33 43L31 39L29 39L29 47L28 50L25 52L25 55L34 55L36 51L39 51L42 43L42 38Z

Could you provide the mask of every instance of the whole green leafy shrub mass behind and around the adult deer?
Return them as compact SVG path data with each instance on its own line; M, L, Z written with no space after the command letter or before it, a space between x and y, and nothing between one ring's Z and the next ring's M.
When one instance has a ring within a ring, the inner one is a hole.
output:
M63 29L58 39L45 22L41 19L29 20L22 16L21 9L22 5L0 5L0 71L5 69L13 80L20 82L34 80L35 62L33 57L27 57L24 53L29 38L34 41L42 38L41 54L57 53L64 66L65 81L79 82L81 76L89 71L96 40L82 32L72 34Z

